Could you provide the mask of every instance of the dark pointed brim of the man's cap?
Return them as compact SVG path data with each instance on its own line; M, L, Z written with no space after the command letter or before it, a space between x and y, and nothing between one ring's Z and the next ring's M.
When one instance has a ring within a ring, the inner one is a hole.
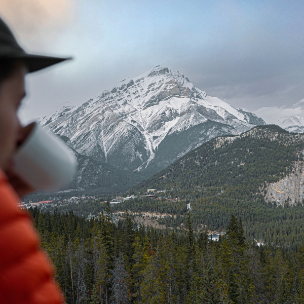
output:
M72 58L49 57L49 56L32 55L32 54L22 54L21 56L16 56L15 58L23 59L26 62L29 73L39 71L43 68L49 67L53 64L65 60L72 59Z

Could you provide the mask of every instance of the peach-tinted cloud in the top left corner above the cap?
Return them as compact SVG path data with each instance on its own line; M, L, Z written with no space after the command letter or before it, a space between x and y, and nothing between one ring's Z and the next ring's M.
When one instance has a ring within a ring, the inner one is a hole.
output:
M54 39L60 29L72 23L78 3L78 0L1 0L0 15L27 49L43 49L47 40Z

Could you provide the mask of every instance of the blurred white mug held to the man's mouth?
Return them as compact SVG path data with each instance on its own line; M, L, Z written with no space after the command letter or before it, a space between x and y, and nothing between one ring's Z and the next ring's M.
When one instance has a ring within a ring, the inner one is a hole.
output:
M77 160L55 135L35 123L13 157L14 172L36 190L58 191L76 172Z

